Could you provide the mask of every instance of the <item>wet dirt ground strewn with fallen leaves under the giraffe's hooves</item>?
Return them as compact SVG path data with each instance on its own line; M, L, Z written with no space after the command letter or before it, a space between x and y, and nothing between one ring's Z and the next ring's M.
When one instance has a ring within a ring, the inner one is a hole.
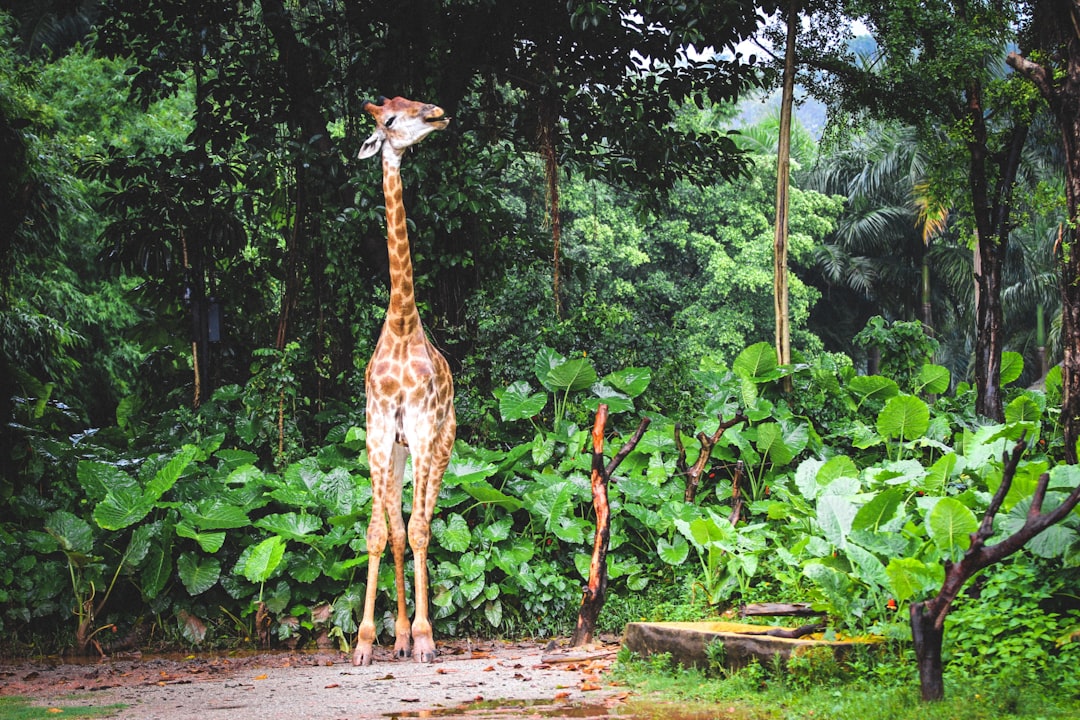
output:
M607 717L629 695L604 677L618 648L454 641L432 664L382 648L368 667L328 651L44 658L0 663L0 695L60 717L65 706L124 705L109 716L122 720Z

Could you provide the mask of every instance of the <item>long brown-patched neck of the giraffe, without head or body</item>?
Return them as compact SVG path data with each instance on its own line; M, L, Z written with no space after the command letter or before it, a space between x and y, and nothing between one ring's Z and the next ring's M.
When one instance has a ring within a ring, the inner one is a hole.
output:
M387 252L390 258L390 307L384 327L397 336L411 335L420 324L413 287L405 204L402 202L401 158L382 159L382 193L387 206Z

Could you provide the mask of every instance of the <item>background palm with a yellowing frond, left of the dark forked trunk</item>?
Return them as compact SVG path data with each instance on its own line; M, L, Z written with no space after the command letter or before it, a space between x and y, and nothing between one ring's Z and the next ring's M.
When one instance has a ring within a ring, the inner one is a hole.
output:
M894 123L870 124L821 154L805 184L845 195L848 208L815 254L820 274L811 282L829 301L819 303L811 322L826 342L850 353L851 337L869 317L919 318L950 345L942 354L962 371L971 252L949 242L949 203L928 182L928 164L915 128Z

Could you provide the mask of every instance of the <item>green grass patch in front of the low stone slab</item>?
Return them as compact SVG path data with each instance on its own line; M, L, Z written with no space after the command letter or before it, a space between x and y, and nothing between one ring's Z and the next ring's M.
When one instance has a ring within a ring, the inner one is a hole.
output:
M818 668L824 669L824 668ZM850 668L849 668L850 669ZM823 674L816 680L807 668L792 673L754 664L740 670L706 674L674 666L654 655L640 660L622 651L613 679L633 688L642 699L626 708L633 717L672 720L737 718L739 720L1049 720L1080 717L1080 698L1054 688L1010 683L1004 679L969 678L946 683L945 699L922 703L914 670L904 663L886 663L863 677ZM674 709L672 706L676 706ZM667 714L648 708L666 706ZM672 714L674 711L674 715Z

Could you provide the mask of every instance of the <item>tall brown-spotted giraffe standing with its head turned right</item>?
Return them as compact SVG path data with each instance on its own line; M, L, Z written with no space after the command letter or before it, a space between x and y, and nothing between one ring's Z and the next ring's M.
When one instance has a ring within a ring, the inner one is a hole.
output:
M405 150L443 130L449 118L442 108L403 97L364 103L375 118L375 134L362 146L359 159L382 152L382 191L387 208L387 248L390 256L390 304L367 365L367 458L372 468L372 520L367 526L367 587L353 665L369 665L375 642L375 596L379 561L387 545L394 556L397 620L394 656L430 663L435 642L428 615L428 543L431 518L443 473L450 459L457 420L454 379L446 358L424 335L416 308L413 261L409 257L405 207L402 203L401 162ZM402 519L402 477L405 458L413 456L413 512L408 544L416 580L416 616L411 627L405 606L405 541Z

